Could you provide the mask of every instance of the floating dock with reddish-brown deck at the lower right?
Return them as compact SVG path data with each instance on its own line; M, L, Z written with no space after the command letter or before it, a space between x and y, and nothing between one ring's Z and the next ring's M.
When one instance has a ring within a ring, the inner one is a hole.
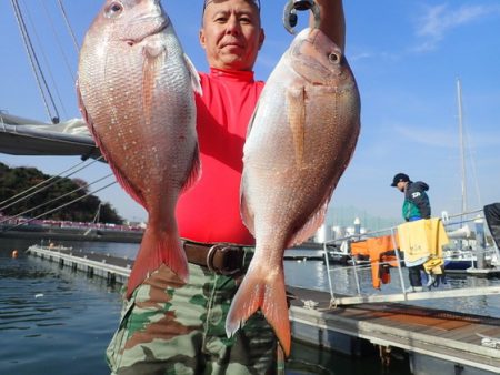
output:
M298 296L290 308L297 339L316 337L317 345L347 354L353 354L354 337L399 347L412 355L414 374L462 374L458 369L467 367L477 369L467 374L500 374L500 318L394 303L331 308L329 293L289 291ZM431 362L440 363L432 364L436 372L429 372Z

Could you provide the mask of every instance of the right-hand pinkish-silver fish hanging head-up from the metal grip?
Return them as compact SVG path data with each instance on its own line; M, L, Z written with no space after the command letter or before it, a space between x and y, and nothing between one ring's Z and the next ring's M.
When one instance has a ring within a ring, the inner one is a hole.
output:
M359 131L360 97L342 51L319 29L303 30L269 77L244 144L241 213L256 253L229 336L260 308L289 355L283 252L323 222Z

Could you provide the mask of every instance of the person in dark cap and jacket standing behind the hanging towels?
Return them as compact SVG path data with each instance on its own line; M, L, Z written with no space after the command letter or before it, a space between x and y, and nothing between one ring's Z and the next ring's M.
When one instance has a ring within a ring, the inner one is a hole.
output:
M431 209L427 191L429 185L422 181L413 182L406 173L398 173L392 179L391 186L397 188L401 193L404 193L404 201L402 205L402 216L407 222L412 222L421 219L430 219ZM421 264L408 266L408 274L410 278L410 292L422 291Z

